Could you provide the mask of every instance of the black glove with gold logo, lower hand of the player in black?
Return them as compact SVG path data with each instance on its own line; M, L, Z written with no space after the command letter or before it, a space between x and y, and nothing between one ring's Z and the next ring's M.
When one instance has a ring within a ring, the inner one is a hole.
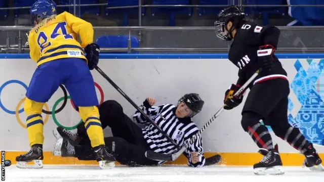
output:
M226 90L224 99L224 109L231 110L242 102L242 95L239 98L233 97L233 95L237 92L239 88L240 86L232 84L231 87Z

